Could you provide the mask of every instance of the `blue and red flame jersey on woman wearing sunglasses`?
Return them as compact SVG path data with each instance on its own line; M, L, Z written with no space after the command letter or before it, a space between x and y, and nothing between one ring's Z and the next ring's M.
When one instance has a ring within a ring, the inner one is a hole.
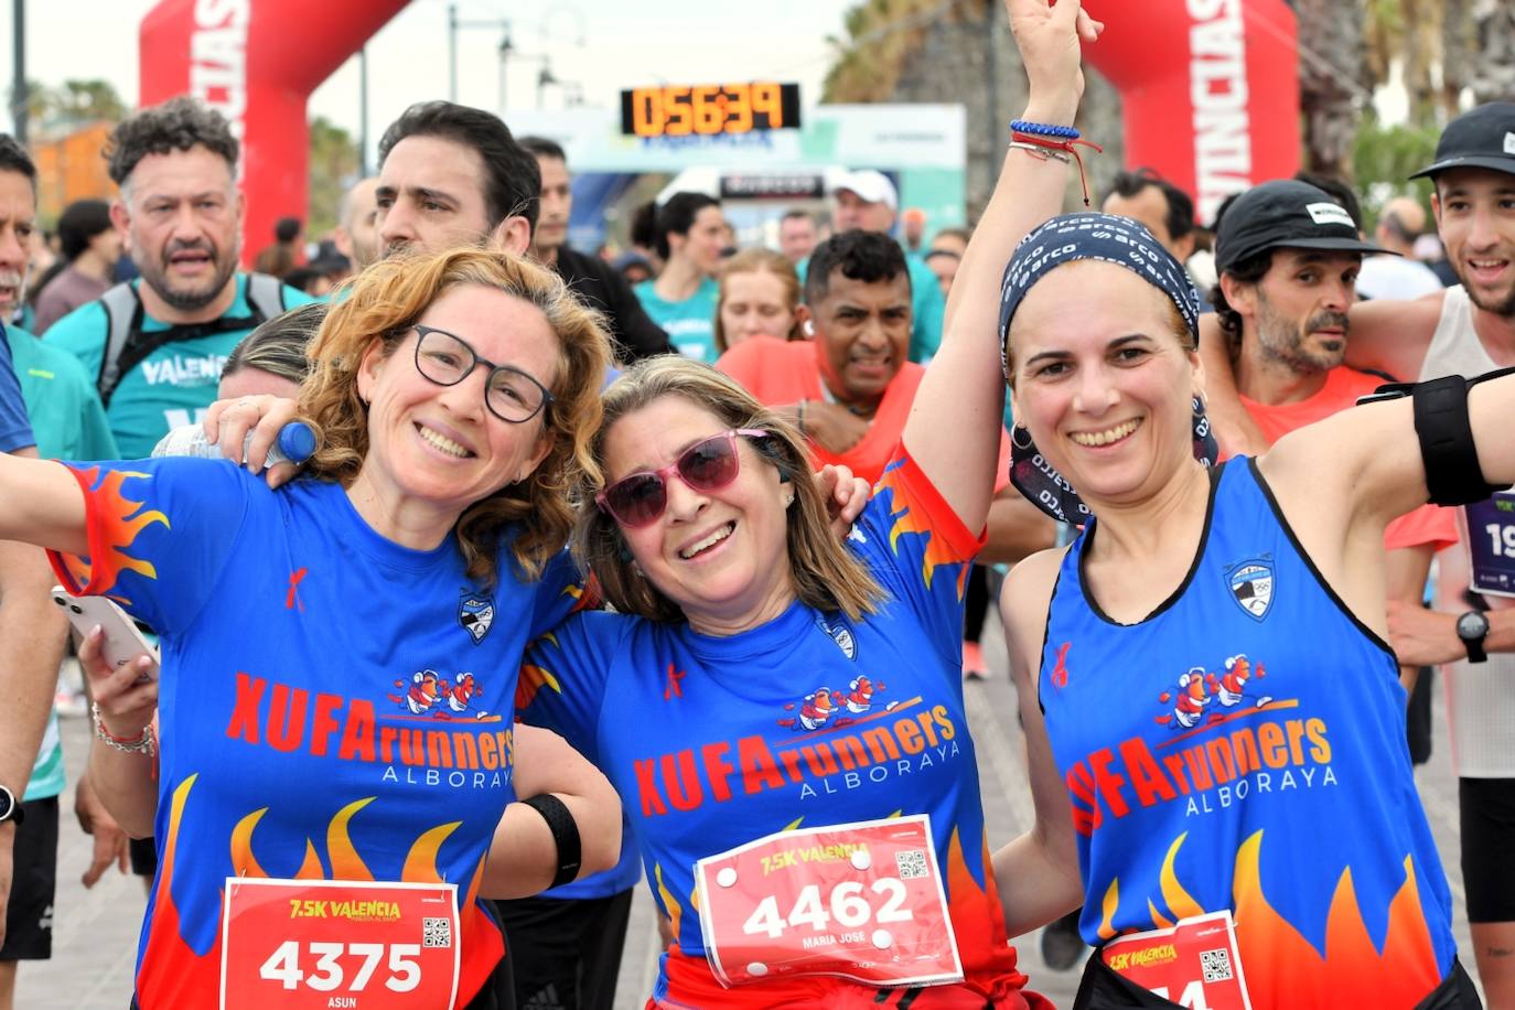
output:
M964 986L912 995L912 1005L1024 1005L959 672L964 580L980 544L898 457L848 547L888 597L861 621L795 603L762 627L712 637L595 612L573 616L527 654L521 718L562 733L615 784L648 887L673 924L677 949L664 957L653 993L661 1005L879 1002L879 990L841 978L723 989L704 960L691 890L704 856L789 828L897 813L930 815L967 975Z

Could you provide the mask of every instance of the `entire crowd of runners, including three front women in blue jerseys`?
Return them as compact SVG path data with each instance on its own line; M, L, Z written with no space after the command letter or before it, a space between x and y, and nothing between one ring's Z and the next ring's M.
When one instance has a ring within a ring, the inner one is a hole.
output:
M1003 2L1027 106L930 239L857 168L779 250L703 192L574 250L564 148L426 100L329 251L244 271L238 141L174 98L42 274L0 136L0 1010L70 624L141 1010L608 1010L638 886L648 1007L1050 1007L1044 927L1080 1008L1515 1007L1515 104L1447 126L1432 232L1303 176L1064 214L1103 26ZM995 594L1020 837L964 701Z

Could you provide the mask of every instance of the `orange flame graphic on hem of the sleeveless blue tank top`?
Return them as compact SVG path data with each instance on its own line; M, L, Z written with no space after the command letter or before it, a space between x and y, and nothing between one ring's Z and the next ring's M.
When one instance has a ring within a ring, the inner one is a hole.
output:
M1186 834L1168 848L1162 865L1162 899L1173 918L1164 916L1147 899L1153 928L1167 928L1176 919L1203 915L1203 909L1179 883L1174 860ZM1324 1007L1339 993L1371 996L1374 1007L1413 1007L1441 981L1430 930L1420 899L1420 884L1409 856L1404 857L1404 883L1388 902L1388 930L1382 948L1376 946L1357 901L1351 868L1336 881L1326 916L1324 954L1306 940L1298 928L1274 910L1264 895L1259 871L1262 831L1253 833L1236 851L1232 880L1236 918L1236 946L1247 989L1256 1007ZM1118 881L1110 881L1101 902L1100 937L1110 939L1110 922L1120 904Z

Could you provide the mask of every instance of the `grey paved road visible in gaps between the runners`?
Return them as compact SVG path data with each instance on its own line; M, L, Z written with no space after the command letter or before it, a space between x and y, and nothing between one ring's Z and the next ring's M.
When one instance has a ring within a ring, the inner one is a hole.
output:
M1015 697L1004 675L1004 648L991 621L985 653L995 675L967 684L968 719L979 751L979 771L985 789L985 815L989 840L998 845L1020 834L1032 819L1026 789L1020 731L1015 724ZM1462 872L1457 866L1457 789L1447 763L1445 718L1441 707L1441 681L1436 692L1435 754L1420 769L1421 798L1430 816L1442 865L1451 883L1456 912L1457 946L1470 951L1463 915ZM64 747L70 784L77 778L86 756L88 721L64 721ZM73 809L73 789L64 796L64 810ZM135 878L108 875L92 890L85 890L79 875L89 863L89 837L71 816L65 816L59 842L59 892L55 919L53 960L21 966L17 986L20 1010L124 1010L130 996L136 933L142 915L142 887ZM656 974L658 930L653 902L639 887L632 909L632 927L621 965L617 1010L639 1010L651 990ZM1068 1007L1077 989L1077 972L1051 972L1038 952L1036 937L1018 943L1021 971L1032 987L1056 1005ZM1473 959L1465 954L1468 971Z

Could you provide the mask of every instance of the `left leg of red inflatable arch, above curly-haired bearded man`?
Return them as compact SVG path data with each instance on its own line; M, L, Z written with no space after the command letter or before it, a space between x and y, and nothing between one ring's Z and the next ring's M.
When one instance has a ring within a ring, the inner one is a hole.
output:
M192 94L242 141L244 260L306 217L306 98L406 2L162 0L142 18L141 104Z

